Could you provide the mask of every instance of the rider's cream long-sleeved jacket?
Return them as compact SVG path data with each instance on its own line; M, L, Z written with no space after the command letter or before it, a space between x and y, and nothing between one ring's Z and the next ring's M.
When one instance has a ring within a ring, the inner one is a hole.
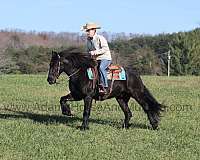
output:
M108 42L101 35L95 34L93 38L87 39L87 51L95 52L97 60L102 60L102 59L112 60Z

